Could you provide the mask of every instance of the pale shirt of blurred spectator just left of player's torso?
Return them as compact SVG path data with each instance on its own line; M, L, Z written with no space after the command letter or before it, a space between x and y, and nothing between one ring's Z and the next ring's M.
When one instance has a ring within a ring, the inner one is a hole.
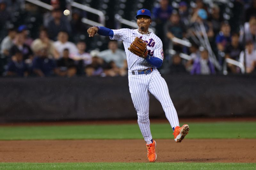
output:
M113 53L112 50L104 50L100 52L99 57L105 60L106 62L114 61L116 66L119 68L124 67L124 60L126 60L126 54L123 50L116 49L116 52Z

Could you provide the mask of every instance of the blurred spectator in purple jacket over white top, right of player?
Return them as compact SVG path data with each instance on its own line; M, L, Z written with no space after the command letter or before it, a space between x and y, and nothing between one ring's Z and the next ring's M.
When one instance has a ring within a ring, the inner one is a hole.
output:
M200 58L194 61L191 74L215 74L215 68L209 60L208 51L200 47Z

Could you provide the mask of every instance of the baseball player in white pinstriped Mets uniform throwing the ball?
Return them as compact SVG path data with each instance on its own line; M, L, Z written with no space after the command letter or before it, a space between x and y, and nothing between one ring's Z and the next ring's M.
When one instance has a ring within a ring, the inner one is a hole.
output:
M110 39L123 41L128 64L129 90L137 111L140 131L146 141L149 162L156 161L156 141L152 139L149 126L149 92L162 104L165 116L174 131L174 140L178 143L188 134L189 126L179 126L177 112L169 95L167 84L157 70L163 63L163 43L152 32L151 13L147 9L137 12L138 29L123 28L111 30L102 26L90 27L89 37L96 33L109 36Z

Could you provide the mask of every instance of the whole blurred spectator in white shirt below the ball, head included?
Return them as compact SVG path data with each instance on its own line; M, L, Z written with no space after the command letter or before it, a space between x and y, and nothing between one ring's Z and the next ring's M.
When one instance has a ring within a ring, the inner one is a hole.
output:
M60 56L62 56L62 52L65 48L68 48L69 53L71 55L74 55L78 53L78 50L76 48L76 45L70 41L68 41L68 32L60 31L58 33L58 41L54 42L54 46L59 52Z

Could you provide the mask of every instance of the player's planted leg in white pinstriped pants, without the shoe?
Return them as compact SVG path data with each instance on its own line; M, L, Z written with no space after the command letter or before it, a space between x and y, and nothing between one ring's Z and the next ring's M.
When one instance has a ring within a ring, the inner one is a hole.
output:
M145 75L129 75L129 90L137 111L140 131L146 142L152 140L149 122L149 80Z

